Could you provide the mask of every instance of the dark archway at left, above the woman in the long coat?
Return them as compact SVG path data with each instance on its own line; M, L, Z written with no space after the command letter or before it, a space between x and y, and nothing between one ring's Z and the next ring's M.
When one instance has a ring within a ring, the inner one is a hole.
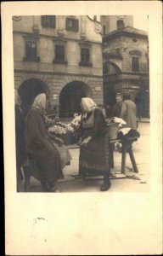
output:
M28 79L20 85L21 108L25 115L31 108L35 97L40 93L46 93L49 96L48 86L40 79Z

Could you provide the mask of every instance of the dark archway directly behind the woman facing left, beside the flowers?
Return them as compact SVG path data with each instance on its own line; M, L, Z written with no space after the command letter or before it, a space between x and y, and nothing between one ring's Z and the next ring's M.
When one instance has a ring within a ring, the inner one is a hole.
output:
M66 84L59 96L59 117L70 118L81 112L82 97L92 97L92 90L87 84L73 81Z

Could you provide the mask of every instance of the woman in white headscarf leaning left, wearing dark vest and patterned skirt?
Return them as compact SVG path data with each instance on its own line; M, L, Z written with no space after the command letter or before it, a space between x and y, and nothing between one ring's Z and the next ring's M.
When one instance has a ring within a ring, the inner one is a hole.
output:
M80 127L79 175L104 176L101 191L110 189L109 141L106 135L102 111L91 98L82 98L82 122Z

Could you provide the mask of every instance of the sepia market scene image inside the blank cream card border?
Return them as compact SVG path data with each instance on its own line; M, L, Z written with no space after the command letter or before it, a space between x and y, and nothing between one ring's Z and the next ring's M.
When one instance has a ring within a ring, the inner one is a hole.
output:
M13 16L13 44L17 191L148 189L148 16Z

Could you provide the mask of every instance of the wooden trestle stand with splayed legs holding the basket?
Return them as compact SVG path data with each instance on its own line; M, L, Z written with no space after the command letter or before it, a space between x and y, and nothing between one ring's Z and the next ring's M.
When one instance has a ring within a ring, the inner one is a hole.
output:
M132 151L132 143L137 141L138 137L128 138L127 140L110 140L110 167L114 168L114 148L112 147L115 143L121 143L121 174L125 174L126 168L126 153L129 154L132 162L133 172L138 172L137 163Z

